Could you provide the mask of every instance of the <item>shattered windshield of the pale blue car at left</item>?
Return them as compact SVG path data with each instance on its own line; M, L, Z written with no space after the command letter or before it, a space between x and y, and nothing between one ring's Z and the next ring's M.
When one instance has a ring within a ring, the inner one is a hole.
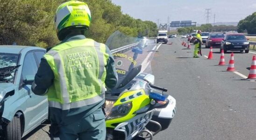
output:
M19 55L0 53L0 82L13 82Z

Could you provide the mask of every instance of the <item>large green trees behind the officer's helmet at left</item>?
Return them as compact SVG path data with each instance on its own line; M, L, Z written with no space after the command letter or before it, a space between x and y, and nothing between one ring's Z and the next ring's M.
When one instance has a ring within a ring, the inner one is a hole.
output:
M51 47L59 41L54 28L57 7L68 0L0 0L0 44ZM121 7L111 0L80 0L88 4L92 22L86 37L106 42L116 30L125 35L156 36L152 21L134 19L122 14Z

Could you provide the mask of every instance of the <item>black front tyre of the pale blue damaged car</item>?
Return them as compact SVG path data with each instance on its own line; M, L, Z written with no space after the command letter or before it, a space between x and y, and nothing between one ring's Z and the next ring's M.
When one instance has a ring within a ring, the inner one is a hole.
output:
M6 126L6 140L21 140L21 120L18 116Z

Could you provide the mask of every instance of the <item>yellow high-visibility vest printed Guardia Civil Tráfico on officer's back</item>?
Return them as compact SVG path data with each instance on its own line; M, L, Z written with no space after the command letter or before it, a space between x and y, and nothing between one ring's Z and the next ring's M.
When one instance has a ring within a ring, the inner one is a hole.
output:
M104 99L108 60L104 44L92 39L65 42L43 57L55 77L48 90L50 107L66 110Z

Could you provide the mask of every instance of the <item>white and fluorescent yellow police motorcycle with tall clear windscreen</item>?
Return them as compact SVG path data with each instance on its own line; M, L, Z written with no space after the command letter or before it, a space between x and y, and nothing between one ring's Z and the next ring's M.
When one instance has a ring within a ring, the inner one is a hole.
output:
M118 84L106 91L106 140L146 140L168 128L176 113L176 100L154 85L150 62L154 40L147 47L138 38L116 31L106 45L116 63ZM122 46L122 47L121 47Z

